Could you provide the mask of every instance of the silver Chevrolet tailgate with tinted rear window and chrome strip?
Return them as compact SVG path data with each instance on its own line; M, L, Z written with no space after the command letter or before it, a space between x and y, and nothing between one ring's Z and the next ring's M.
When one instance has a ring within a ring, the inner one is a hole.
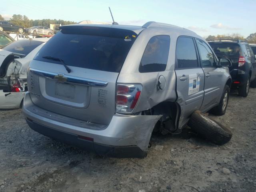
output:
M136 36L130 30L63 26L30 63L32 101L64 116L110 123L115 114L116 80Z

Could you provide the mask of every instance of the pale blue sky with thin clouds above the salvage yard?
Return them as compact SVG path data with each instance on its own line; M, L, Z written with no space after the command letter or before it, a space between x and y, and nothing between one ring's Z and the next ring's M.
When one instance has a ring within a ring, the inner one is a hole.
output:
M48 3L46 3L48 2ZM0 14L29 19L91 20L142 26L148 21L188 28L200 36L256 32L256 0L1 0Z

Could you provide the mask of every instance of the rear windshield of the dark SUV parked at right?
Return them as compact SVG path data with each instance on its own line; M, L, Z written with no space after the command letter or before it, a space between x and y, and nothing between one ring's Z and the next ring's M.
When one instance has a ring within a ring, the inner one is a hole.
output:
M218 58L239 58L240 46L237 43L209 42Z

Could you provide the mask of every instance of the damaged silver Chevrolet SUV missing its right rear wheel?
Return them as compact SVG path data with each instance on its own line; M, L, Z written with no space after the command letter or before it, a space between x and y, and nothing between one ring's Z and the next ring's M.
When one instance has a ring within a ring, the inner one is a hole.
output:
M153 129L179 132L195 110L225 113L230 61L194 32L156 22L60 29L28 68L23 112L33 130L144 157Z

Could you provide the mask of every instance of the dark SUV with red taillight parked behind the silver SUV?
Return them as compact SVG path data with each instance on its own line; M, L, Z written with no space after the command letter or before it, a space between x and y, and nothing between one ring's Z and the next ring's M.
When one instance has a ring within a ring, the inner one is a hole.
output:
M244 40L216 39L208 42L218 58L228 58L232 77L232 88L246 97L249 87L256 87L256 60L249 44Z

